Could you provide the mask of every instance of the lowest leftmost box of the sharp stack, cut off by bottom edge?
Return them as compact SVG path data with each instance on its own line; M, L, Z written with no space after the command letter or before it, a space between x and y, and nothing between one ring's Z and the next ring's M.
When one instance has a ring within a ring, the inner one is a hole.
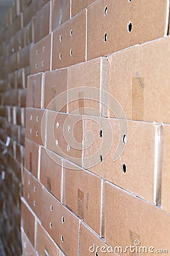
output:
M21 235L22 235L23 256L29 256L29 255L36 256L36 251L33 248L31 242L29 241L23 229L21 229Z

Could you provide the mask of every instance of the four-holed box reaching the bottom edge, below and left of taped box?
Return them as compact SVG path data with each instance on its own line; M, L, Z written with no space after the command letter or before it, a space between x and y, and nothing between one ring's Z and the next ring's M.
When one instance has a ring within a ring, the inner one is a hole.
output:
M42 213L42 226L61 250L68 256L78 255L79 219L45 189L42 189Z

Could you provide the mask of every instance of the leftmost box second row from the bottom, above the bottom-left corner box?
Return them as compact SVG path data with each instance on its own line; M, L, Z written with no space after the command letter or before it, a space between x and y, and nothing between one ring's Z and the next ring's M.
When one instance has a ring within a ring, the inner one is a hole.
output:
M22 222L21 226L32 243L35 246L35 216L33 216L32 211L22 197Z

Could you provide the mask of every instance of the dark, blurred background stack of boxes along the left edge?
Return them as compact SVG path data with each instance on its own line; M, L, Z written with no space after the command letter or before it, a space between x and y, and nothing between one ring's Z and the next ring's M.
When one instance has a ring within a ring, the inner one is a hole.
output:
M1 30L1 224L6 255L21 255L20 196L24 167L25 102L37 1L16 0Z

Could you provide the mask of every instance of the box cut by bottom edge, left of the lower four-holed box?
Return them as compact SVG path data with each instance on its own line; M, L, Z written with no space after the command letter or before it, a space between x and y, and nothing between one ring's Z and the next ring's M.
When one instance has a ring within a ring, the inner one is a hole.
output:
M59 256L59 249L45 229L37 222L37 252L39 255Z

